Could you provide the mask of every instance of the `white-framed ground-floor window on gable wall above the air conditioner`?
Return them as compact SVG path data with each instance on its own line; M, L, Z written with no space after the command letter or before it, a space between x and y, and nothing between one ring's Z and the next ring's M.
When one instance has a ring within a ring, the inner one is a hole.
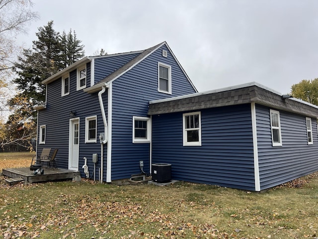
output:
M133 116L133 143L149 143L151 124L148 117Z

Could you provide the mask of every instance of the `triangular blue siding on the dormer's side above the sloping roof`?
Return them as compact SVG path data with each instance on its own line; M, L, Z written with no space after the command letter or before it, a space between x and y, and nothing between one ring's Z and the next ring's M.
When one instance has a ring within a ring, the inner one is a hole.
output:
M140 53L139 53L140 54ZM130 60L134 59L139 54L125 54L119 56L109 56L104 58L96 58L94 60L95 64L95 83L101 81L109 74L113 73L118 68L125 65Z

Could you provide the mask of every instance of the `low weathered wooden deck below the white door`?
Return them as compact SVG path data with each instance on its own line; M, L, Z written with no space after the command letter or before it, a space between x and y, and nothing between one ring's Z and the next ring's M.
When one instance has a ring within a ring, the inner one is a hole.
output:
M72 171L62 168L44 168L44 174L33 174L29 167L2 169L3 176L10 178L22 178L25 184L45 182L61 179L73 179L80 177L79 171Z

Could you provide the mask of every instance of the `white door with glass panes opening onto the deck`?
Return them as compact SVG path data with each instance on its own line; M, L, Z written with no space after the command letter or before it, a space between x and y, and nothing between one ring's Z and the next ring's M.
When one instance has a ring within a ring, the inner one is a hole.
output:
M79 170L79 119L70 121L69 169Z

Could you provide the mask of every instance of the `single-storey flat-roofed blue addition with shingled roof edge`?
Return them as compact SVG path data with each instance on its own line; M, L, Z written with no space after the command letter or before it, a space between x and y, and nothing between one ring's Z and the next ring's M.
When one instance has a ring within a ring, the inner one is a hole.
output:
M261 191L318 171L318 107L257 83L150 102L152 162Z

